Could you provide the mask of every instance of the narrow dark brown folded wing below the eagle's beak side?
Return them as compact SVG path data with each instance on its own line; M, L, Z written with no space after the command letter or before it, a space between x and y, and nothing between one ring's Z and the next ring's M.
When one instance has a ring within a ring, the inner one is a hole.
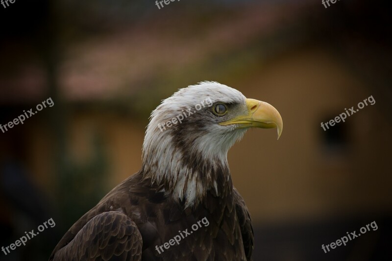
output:
M254 248L254 235L252 223L250 220L249 210L246 208L245 201L237 191L234 190L234 202L236 207L236 213L238 222L240 223L242 241L244 244L244 251L247 261L253 261L253 248Z

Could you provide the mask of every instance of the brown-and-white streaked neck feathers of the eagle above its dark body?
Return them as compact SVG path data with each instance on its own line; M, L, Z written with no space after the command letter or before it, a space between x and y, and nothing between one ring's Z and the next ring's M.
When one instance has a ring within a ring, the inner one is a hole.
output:
M143 155L144 177L185 208L197 206L207 192L224 197L233 188L226 158L203 158L189 148L174 148L172 144L155 149L156 153Z

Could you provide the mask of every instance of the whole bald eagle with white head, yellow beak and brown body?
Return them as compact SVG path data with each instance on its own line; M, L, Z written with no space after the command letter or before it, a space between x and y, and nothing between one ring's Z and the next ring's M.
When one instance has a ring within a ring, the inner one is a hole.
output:
M49 261L251 261L249 211L234 188L230 147L283 123L270 104L204 81L151 113L141 170L68 230Z

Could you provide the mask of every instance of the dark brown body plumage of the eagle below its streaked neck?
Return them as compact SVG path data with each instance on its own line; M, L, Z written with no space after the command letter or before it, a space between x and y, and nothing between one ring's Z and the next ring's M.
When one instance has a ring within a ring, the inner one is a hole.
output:
M50 261L251 261L253 230L245 203L231 184L196 208L183 209L137 173L110 191L63 236ZM165 252L155 246L206 217L202 226Z

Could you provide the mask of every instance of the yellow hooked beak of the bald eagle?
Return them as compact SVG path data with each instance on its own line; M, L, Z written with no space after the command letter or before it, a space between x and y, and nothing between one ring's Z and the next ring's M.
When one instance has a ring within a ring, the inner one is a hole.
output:
M237 116L220 125L237 124L238 129L242 128L277 128L278 139L283 130L283 121L279 112L271 105L254 99L246 99L247 112L245 115Z

